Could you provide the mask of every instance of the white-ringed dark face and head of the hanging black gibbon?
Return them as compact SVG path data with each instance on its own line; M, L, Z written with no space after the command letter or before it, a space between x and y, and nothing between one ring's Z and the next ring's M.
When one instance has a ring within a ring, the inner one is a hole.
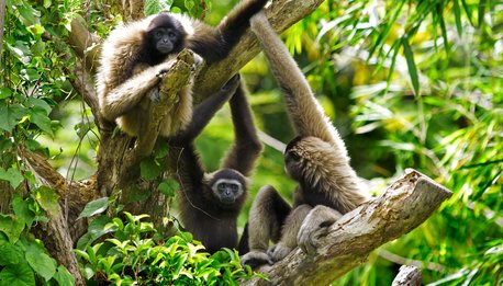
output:
M246 182L242 174L224 169L214 174L210 182L213 195L223 206L239 205L246 192Z

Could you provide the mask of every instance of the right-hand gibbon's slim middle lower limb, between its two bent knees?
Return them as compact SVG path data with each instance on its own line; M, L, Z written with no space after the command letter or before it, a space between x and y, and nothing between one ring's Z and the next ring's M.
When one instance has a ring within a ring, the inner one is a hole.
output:
M313 209L310 205L300 205L288 215L284 225L281 228L281 239L269 248L267 254L272 262L284 259L294 248L297 248L297 234L302 226L302 221Z

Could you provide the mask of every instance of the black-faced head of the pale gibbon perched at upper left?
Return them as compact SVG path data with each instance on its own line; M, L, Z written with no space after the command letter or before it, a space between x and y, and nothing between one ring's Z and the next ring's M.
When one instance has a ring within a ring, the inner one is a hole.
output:
M154 18L147 28L148 43L160 55L179 53L183 48L185 36L181 24L168 14Z

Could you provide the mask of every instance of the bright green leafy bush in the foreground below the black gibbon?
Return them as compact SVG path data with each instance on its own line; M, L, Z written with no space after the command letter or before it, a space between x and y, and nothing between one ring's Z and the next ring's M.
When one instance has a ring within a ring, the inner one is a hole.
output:
M146 215L123 215L125 221L115 217L101 226L101 233L111 230L111 237L76 250L88 279L118 285L238 285L239 279L254 276L249 266L241 266L236 251L210 255L188 232L155 240L153 224L142 220Z

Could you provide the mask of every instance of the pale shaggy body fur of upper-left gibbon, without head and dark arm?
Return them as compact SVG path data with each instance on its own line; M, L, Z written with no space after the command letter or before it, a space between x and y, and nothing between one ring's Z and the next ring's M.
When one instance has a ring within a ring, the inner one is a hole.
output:
M155 16L155 15L154 15ZM97 72L98 99L101 114L109 121L116 121L130 136L137 136L146 121L146 108L138 106L141 100L159 83L156 76L171 67L176 55L154 67L139 64L133 72L126 67L134 66L145 38L145 31L154 16L120 26L110 33L102 45L100 67ZM128 75L133 73L131 78ZM163 119L159 134L169 136L183 128L192 115L192 82L179 92L179 100L172 111Z

